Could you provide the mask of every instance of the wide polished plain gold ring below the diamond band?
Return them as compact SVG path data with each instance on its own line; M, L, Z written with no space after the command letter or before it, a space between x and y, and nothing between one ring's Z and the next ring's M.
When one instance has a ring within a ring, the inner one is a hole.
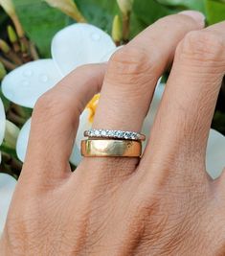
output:
M133 140L87 139L81 141L83 156L140 157L142 143Z

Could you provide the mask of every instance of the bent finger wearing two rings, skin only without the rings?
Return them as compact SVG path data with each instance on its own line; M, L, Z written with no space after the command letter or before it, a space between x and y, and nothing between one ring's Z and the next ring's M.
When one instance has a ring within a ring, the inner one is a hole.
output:
M140 131L155 84L171 62L178 42L204 27L200 12L183 12L155 22L109 60L93 128ZM121 175L133 172L137 158L85 158L82 163ZM111 167L111 168L108 168ZM101 174L102 172L99 172ZM108 172L107 172L108 173ZM119 175L119 176L121 176Z

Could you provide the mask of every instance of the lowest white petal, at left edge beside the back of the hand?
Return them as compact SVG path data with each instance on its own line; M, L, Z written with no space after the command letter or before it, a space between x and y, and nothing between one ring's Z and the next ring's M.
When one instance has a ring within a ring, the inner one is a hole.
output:
M15 185L16 180L11 175L0 174L0 234L4 229Z

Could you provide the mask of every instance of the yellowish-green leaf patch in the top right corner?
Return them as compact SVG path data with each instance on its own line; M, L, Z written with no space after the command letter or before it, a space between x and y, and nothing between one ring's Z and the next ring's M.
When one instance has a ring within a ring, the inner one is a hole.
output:
M210 25L225 20L225 1L205 0L205 6Z

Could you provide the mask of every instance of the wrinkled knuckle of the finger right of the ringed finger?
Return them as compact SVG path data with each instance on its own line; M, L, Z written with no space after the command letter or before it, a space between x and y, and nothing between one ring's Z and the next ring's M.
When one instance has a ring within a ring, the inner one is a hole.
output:
M224 41L212 31L191 31L180 42L177 52L181 58L215 62L223 59Z

